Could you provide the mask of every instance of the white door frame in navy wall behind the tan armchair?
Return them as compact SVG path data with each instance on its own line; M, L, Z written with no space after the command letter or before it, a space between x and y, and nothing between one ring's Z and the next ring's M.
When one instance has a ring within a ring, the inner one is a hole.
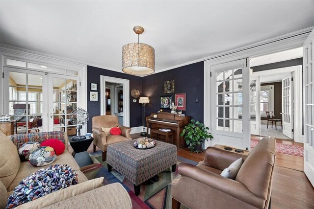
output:
M123 125L130 127L130 80L123 78L109 77L105 75L100 76L100 115L105 115L105 83L119 83L123 84Z

